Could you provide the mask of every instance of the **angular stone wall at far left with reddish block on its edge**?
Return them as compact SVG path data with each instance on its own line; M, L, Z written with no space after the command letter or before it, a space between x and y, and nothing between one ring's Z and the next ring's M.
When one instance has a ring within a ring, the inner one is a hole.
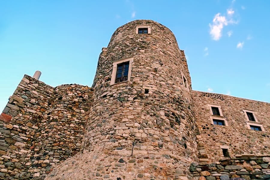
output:
M53 88L24 75L0 116L0 177L16 176L30 161L32 144Z

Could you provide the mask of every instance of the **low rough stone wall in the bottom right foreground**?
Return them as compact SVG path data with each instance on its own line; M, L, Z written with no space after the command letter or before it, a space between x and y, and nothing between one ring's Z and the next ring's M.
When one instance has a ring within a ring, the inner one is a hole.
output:
M194 180L229 180L230 178L270 179L270 155L236 155L211 164L192 163L190 172Z

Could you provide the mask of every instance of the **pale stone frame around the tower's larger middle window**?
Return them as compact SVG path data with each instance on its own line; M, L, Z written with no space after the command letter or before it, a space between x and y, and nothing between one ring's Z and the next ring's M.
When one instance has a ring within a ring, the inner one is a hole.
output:
M114 85L114 84L118 84L118 83L130 81L130 78L131 78L131 68L132 68L132 62L133 62L133 60L134 60L133 57L128 57L128 58L123 58L123 59L119 59L119 60L113 61L113 72L112 72L112 78L111 78L110 85ZM121 64L121 63L127 62L127 61L129 61L129 65L128 65L128 80L127 81L122 81L122 82L115 83L116 71L117 71L117 64Z

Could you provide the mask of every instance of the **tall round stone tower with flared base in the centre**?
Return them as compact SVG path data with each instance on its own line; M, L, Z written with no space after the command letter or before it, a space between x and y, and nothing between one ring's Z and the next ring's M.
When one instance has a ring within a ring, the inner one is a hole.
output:
M197 160L191 81L173 33L119 27L103 48L80 154L46 179L191 179Z

